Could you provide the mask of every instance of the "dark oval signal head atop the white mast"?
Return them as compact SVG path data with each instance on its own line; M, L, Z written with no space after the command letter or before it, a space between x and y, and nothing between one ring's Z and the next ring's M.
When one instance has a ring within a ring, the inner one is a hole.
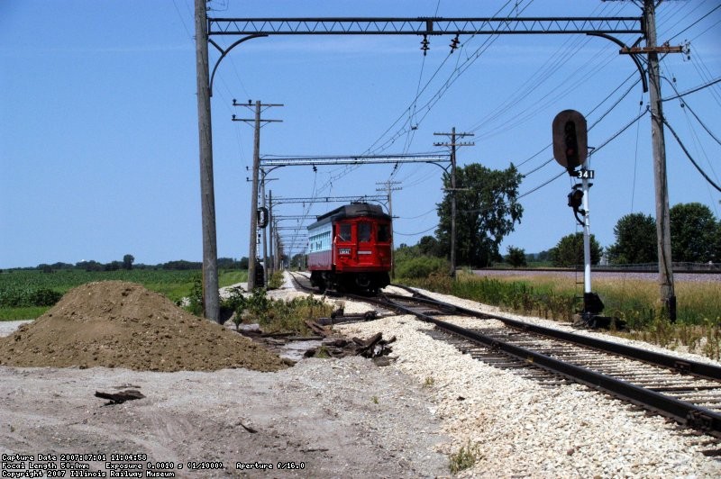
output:
M572 172L589 156L586 119L576 110L563 110L553 119L553 158Z

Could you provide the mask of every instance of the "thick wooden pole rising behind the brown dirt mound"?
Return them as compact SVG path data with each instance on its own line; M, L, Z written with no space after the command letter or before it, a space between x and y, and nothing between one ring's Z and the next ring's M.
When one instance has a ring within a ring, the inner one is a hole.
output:
M196 0L197 129L200 140L200 204L203 216L203 315L219 321L218 250L215 239L213 140L205 0Z

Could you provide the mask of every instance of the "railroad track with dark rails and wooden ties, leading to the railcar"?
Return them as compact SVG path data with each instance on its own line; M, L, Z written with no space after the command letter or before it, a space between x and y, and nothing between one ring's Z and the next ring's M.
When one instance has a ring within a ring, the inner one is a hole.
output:
M721 438L719 366L475 312L407 291L413 295L348 296L431 322L435 339L492 366L514 369L549 387L567 381L585 384ZM468 318L481 321L461 326Z

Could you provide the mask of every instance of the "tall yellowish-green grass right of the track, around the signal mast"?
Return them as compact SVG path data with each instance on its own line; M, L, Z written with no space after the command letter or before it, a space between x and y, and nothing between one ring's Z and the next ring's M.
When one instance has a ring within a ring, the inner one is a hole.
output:
M582 279L580 275L579 281ZM456 281L436 275L412 283L438 293L496 305L505 311L554 321L570 322L582 307L583 288L577 285L576 278L552 273L486 277L459 272ZM675 323L662 310L655 281L599 278L592 285L605 304L603 314L626 322L627 330L613 334L721 359L721 285L677 281Z

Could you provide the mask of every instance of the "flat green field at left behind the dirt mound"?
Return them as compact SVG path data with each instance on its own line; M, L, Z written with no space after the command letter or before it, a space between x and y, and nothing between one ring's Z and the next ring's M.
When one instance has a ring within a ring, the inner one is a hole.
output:
M39 270L6 270L0 273L0 321L35 319L50 309L36 306L28 298L33 293L48 291L66 294L70 289L94 281L129 281L167 296L177 303L190 294L197 270L133 269L117 271L60 270L42 273ZM246 270L223 270L218 277L221 287L248 280Z

